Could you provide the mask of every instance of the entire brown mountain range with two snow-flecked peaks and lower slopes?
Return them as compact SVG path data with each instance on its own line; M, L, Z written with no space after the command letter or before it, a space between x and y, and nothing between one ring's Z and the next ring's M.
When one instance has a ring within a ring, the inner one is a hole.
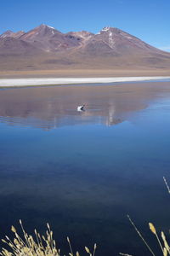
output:
M97 34L62 33L44 24L29 32L8 30L0 35L0 56L1 70L170 68L170 53L115 27Z

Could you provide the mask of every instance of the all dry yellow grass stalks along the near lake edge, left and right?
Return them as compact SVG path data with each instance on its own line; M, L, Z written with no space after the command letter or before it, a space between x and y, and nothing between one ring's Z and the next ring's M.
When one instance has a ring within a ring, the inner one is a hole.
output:
M167 184L167 180L165 177L163 177L164 182L167 186L167 191L170 194L170 189ZM140 233L136 225L133 223L133 220L127 215L127 218L129 219L130 223L133 225L133 228L136 230L142 241L144 241L145 246L148 248L148 251L152 256L156 256L156 254L153 252L153 250L150 248L150 245L145 241L144 236ZM20 220L20 226L23 232L23 238L21 238L17 231L15 230L14 226L12 226L11 230L14 232L14 240L11 241L8 236L5 236L5 239L3 239L3 243L6 245L6 247L3 247L0 251L0 255L2 256L60 256L60 250L56 247L56 242L53 238L53 231L50 230L49 224L47 224L48 230L46 231L46 236L41 236L39 233L37 233L37 230L35 230L35 238L33 236L30 236L26 233L26 230L24 230L22 222ZM154 224L149 223L150 231L156 236L156 241L158 242L160 248L161 248L161 255L167 256L170 255L170 246L167 243L167 238L163 231L161 231L161 238L159 237L159 234L156 232L156 228ZM70 256L80 256L78 252L73 253L72 247L71 247L71 241L69 237L67 237L67 241L70 247ZM91 252L88 247L84 247L85 252L88 253L88 256L94 256L96 252L96 244L94 244L93 251ZM127 253L119 253L122 256L133 256L129 255Z

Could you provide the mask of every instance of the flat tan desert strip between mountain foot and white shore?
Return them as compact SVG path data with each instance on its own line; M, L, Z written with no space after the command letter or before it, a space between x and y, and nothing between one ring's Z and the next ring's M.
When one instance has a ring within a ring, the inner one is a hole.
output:
M21 78L111 78L169 76L170 69L51 69L0 71L0 79Z

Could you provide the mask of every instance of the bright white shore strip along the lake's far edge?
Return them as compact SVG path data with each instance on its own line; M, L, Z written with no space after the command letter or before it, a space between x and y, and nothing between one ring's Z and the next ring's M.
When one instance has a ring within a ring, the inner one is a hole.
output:
M108 84L116 82L138 82L148 80L167 80L170 77L120 77L120 78L30 78L0 79L0 87L18 87L54 84Z

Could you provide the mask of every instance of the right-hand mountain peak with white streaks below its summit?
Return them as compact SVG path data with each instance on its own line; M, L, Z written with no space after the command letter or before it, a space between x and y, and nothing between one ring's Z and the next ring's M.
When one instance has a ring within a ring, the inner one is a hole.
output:
M114 27L104 27L94 37L89 38L82 51L90 55L129 55L161 52L160 49L156 49L139 38Z

